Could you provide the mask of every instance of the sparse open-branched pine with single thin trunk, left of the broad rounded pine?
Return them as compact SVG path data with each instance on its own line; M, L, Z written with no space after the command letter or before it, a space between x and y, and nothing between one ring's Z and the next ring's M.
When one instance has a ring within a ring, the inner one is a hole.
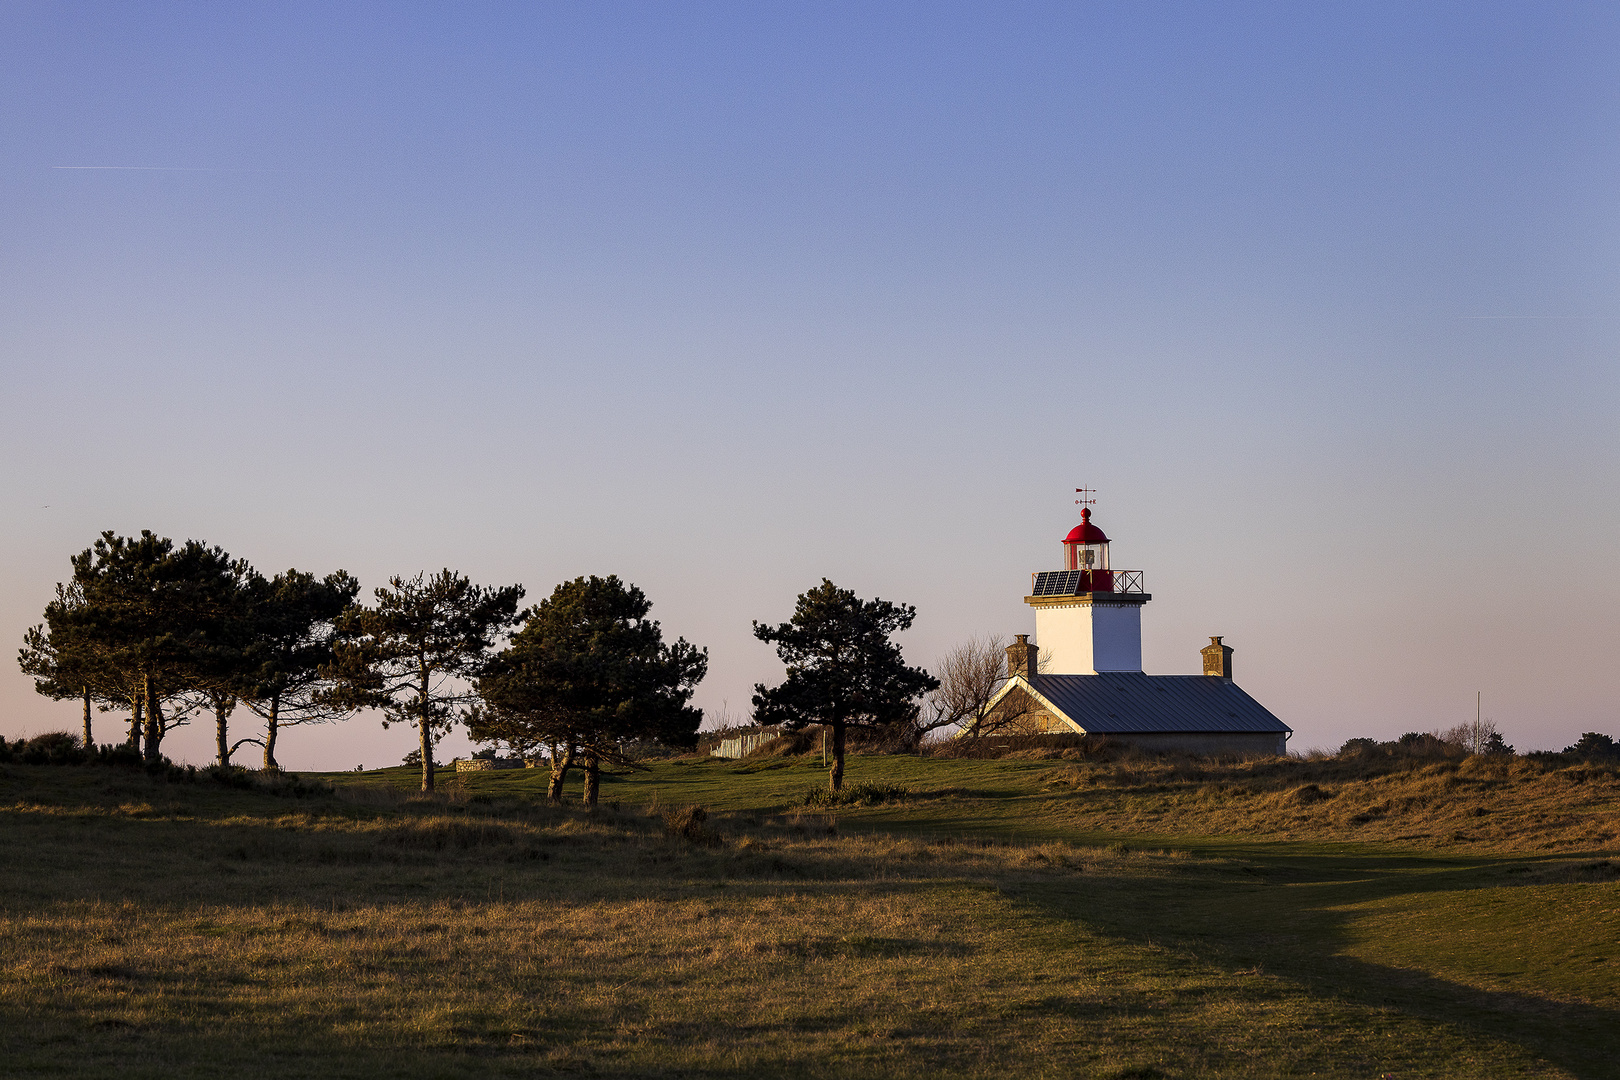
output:
M457 706L475 699L468 680L483 675L522 599L520 585L481 588L450 570L390 578L374 606L350 606L334 620L332 662L321 669L332 685L314 701L376 708L384 727L416 727L421 790L431 792L433 743L455 724Z

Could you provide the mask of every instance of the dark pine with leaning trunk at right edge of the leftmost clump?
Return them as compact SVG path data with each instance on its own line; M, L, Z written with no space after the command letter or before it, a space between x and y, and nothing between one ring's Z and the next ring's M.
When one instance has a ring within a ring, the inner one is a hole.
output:
M245 706L264 721L262 738L225 745L220 730L220 764L245 743L264 746L264 767L280 769L275 742L284 727L342 719L352 708L322 699L330 682L321 674L334 662L332 620L342 615L360 581L343 570L316 578L303 570L287 570L274 578L254 576L249 586L248 619L253 635L243 656L237 693Z

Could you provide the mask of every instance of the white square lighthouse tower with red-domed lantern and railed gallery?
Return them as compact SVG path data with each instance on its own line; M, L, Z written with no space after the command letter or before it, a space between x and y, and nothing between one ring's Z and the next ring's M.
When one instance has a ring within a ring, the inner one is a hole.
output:
M1063 539L1064 568L1034 575L1024 602L1035 609L1042 675L1100 675L1142 670L1140 570L1115 570L1108 536L1090 507Z

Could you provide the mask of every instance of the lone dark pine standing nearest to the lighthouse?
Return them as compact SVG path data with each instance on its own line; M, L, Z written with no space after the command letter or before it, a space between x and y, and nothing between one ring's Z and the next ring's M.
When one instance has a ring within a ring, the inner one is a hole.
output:
M787 677L753 688L753 717L797 730L825 724L833 730L833 790L844 785L844 735L849 727L914 725L917 696L940 680L907 667L891 635L917 617L909 604L862 601L826 578L799 596L794 617L778 627L753 623L753 636L776 646Z

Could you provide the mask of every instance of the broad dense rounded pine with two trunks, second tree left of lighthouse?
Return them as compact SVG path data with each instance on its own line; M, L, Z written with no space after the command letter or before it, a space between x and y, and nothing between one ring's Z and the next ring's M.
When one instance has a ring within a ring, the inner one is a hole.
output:
M664 644L651 607L612 575L559 585L478 680L484 704L468 719L473 740L523 756L548 746L552 801L580 759L586 806L596 805L601 766L630 763L627 743L695 745L703 714L688 701L708 653L685 638Z

